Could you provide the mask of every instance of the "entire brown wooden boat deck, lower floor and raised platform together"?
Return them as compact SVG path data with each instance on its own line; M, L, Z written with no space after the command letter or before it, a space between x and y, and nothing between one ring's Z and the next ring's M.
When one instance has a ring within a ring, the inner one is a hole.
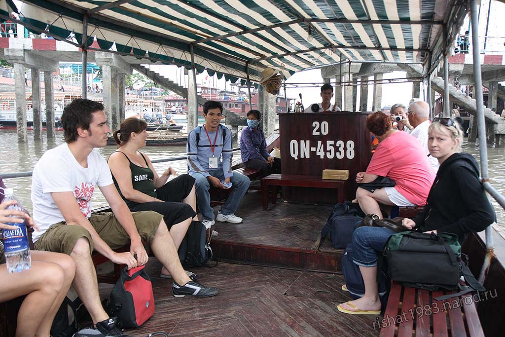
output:
M171 281L159 277L161 264L151 258L146 269L153 281L155 315L127 332L137 336L156 331L171 336L379 335L372 325L378 316L338 312L337 304L350 300L340 289L341 273L308 270L335 272L340 263L342 252L333 250L328 239L317 248L330 211L328 206L281 200L263 211L261 193L248 193L237 211L242 224L216 223L217 266L192 269L202 283L216 286L219 294L207 299L172 297ZM271 267L282 264L287 268ZM108 298L111 290L112 285L100 284L103 297Z

